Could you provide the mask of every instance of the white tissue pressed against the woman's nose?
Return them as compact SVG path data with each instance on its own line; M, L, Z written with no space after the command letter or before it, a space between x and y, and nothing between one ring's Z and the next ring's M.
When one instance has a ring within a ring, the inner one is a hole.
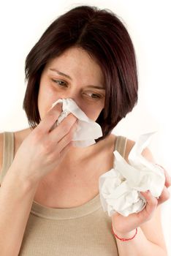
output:
M102 137L102 128L95 121L91 120L86 114L77 106L73 99L58 99L53 103L62 104L62 112L58 117L56 124L53 125L53 129L61 123L61 121L72 113L78 119L77 129L73 135L74 145L77 147L86 147L96 143L95 139Z

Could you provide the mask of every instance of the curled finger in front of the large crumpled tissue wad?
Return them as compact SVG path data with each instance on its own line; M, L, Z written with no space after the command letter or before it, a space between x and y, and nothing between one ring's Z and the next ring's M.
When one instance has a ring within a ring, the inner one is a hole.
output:
M156 197L153 197L151 195L151 192L148 190L147 192L141 192L143 197L145 197L146 200L146 206L145 208L138 213L139 217L141 217L144 220L151 219L151 216L153 214L153 211L156 209L158 200Z

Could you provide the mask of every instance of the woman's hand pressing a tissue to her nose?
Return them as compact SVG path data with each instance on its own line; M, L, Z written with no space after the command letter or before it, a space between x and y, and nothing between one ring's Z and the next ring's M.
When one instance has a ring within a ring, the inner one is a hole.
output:
M37 183L60 164L72 146L77 118L71 113L51 130L61 114L61 104L48 111L39 125L23 140L15 154L12 166L20 178Z

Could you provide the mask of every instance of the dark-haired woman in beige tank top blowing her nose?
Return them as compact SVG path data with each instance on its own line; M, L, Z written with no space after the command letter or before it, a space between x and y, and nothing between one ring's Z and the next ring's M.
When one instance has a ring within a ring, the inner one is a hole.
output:
M1 255L167 255L157 207L169 197L167 173L159 200L142 193L147 205L139 214L110 218L99 201L99 176L113 167L114 148L128 160L134 145L110 133L137 102L134 47L123 23L95 7L66 12L28 54L26 79L30 128L0 137ZM94 145L72 144L72 114L51 129L60 98L100 124ZM143 155L153 161L148 149Z

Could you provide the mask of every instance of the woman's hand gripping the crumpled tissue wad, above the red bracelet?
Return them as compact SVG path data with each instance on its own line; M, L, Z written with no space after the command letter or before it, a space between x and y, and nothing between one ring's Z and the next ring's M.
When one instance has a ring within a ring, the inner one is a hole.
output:
M164 189L161 192L159 199L153 197L150 191L141 192L145 200L147 201L145 208L137 214L130 214L128 217L124 217L121 214L115 213L112 216L113 231L120 236L125 236L130 233L136 227L139 227L144 222L147 222L153 216L156 207L159 204L164 203L170 197L168 187L171 185L171 178L166 170L164 170L165 184Z

